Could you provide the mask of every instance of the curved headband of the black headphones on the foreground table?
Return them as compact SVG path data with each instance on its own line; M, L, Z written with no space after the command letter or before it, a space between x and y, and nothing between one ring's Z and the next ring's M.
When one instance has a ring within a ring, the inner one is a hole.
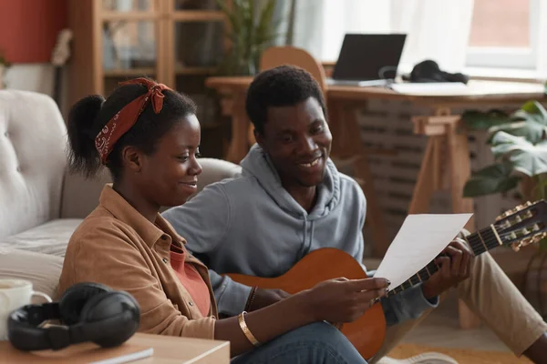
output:
M61 319L66 325L76 324L89 299L111 291L108 286L100 283L82 282L71 286L59 300Z

